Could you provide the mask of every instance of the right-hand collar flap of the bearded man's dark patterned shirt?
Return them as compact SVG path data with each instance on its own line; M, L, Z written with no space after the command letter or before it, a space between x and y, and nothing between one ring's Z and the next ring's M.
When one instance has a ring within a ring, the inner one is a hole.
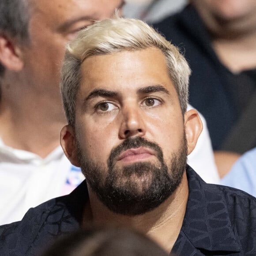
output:
M220 187L205 183L190 166L186 173L189 196L181 232L195 248L240 252Z

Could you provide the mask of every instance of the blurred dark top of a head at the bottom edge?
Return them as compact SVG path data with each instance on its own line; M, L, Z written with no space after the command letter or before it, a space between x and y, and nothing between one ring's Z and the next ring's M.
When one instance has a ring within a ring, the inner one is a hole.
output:
M62 237L43 256L167 256L142 233L126 228L90 228Z

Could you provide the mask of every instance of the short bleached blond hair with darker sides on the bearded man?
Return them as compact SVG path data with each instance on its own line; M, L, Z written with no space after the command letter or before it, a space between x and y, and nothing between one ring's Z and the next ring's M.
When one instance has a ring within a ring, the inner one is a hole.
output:
M67 46L61 71L60 90L68 123L75 126L75 101L81 79L80 67L89 56L128 50L157 48L166 57L182 113L187 109L188 82L191 73L179 50L161 34L137 19L105 19L81 30Z

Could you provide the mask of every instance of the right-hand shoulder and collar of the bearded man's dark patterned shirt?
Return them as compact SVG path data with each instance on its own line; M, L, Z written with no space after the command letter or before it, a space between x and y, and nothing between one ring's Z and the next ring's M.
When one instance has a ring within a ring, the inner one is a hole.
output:
M256 198L236 188L207 184L191 168L187 177L182 231L194 248L256 255Z

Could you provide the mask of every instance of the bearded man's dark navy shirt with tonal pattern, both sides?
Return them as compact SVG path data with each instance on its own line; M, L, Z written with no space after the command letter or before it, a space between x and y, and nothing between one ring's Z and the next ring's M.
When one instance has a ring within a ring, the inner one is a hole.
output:
M256 198L207 184L189 166L186 173L187 210L170 255L256 255ZM56 237L79 229L87 200L84 181L70 195L31 208L22 221L0 226L0 255L40 255Z

